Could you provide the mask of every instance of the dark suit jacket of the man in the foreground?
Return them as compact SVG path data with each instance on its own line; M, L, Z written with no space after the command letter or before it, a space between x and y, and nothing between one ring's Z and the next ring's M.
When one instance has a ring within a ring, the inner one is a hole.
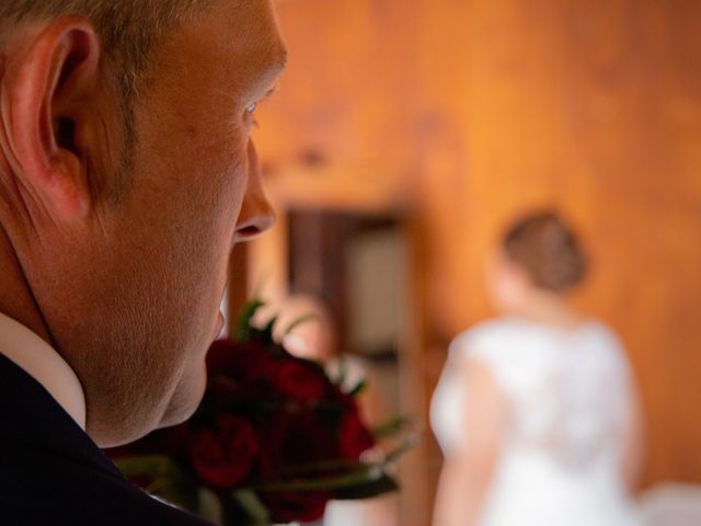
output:
M131 485L34 378L0 354L0 525L186 525Z

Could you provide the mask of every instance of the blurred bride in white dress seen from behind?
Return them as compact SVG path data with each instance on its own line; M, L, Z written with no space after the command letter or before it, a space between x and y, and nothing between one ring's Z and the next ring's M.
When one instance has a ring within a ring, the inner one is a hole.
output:
M585 274L555 214L508 232L491 264L503 316L451 344L432 404L445 454L434 526L636 526L634 380L616 335L572 310Z

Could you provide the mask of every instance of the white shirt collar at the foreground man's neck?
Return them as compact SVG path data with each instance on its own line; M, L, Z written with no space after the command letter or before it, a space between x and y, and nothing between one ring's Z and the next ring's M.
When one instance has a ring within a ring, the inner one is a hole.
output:
M0 353L33 376L85 430L85 396L73 369L37 334L0 312Z

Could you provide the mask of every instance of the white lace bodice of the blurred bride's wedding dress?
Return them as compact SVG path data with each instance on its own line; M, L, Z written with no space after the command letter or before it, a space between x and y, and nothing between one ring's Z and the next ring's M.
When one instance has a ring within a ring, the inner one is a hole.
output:
M618 339L604 324L570 331L502 318L457 338L432 411L446 450L466 439L460 436L464 426L456 425L464 418L457 369L466 359L486 365L507 399L507 450L540 453L575 471L620 455L630 370Z

